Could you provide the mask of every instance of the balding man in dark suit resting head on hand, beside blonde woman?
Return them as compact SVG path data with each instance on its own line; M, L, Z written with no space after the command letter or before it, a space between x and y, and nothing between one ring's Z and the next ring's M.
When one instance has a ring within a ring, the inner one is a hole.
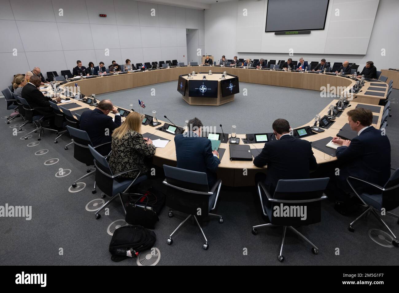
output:
M115 122L110 112L115 114ZM111 142L112 132L122 124L117 107L111 101L102 100L93 111L85 111L80 116L80 129L87 132L93 146ZM107 144L99 150L101 154L108 154L111 151L111 144Z

